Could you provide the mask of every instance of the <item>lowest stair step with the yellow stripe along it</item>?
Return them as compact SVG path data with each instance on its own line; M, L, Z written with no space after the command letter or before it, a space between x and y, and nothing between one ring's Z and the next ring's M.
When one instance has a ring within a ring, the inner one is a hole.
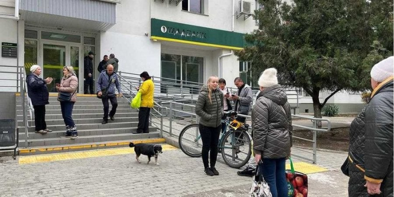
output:
M129 143L147 143L147 144L160 144L165 143L164 138L153 137L133 140L117 140L117 141L106 141L106 142L93 142L93 143L80 143L80 144L66 144L57 146L37 146L32 148L20 148L19 155L38 155L38 154L50 154L50 153L63 153L71 151L84 151L84 150L95 150L103 148L118 148L128 147Z

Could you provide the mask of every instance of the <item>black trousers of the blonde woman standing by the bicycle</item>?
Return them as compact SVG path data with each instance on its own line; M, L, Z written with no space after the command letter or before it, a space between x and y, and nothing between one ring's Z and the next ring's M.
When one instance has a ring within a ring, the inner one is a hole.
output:
M219 143L219 135L222 130L222 126L220 125L217 128L214 127L205 127L203 125L199 125L199 131L202 140L202 163L204 164L204 168L209 167L208 155L210 153L211 167L215 167L216 159L218 157L218 143Z

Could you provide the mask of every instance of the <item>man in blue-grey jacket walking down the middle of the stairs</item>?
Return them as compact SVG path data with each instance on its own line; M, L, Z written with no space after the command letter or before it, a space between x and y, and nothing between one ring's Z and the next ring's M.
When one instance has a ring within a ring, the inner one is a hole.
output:
M101 97L102 105L104 106L104 116L102 117L101 124L108 123L108 99L111 101L112 105L112 109L109 112L109 118L111 120L115 120L114 115L116 113L116 108L118 107L115 86L116 89L118 89L119 97L121 97L122 89L120 87L118 75L114 72L114 66L108 65L105 70L101 71L99 79L97 80L97 95Z

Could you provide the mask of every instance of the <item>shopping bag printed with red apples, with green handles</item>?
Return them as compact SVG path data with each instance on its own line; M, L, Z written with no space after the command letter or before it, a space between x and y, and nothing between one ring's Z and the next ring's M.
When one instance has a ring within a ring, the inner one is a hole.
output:
M288 197L308 197L308 176L294 171L292 158L289 159L291 169L286 170Z

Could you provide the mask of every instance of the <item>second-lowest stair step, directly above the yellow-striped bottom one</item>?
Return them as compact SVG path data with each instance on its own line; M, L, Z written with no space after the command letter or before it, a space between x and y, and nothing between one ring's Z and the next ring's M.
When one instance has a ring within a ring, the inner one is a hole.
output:
M150 131L149 133L121 133L121 134L103 134L103 135L88 135L79 136L77 139L70 138L44 138L44 139L30 139L28 141L28 147L38 146L58 146L58 145L70 145L70 144L82 144L82 143L93 143L93 142L107 142L107 141L118 141L118 140L136 140L141 138L155 138L159 137L160 132ZM20 147L25 146L25 140L19 140Z

